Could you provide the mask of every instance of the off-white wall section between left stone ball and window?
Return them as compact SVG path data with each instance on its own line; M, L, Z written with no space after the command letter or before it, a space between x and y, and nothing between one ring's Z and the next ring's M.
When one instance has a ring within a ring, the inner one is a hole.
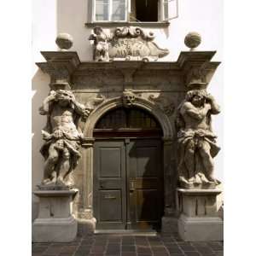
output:
M73 37L70 50L78 52L81 61L92 60L92 49L88 40L90 29L84 26L87 20L87 1L57 0L57 32L67 32Z

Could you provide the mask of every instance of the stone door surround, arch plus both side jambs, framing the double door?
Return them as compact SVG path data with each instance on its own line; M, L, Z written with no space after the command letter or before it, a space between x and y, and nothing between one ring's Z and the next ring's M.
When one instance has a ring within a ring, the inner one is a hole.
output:
M94 219L93 214L93 130L96 122L102 118L105 113L124 106L123 96L114 97L105 100L98 105L91 113L84 125L84 145L83 145L83 159L84 159L84 202L82 202L83 210L79 212L80 218ZM163 131L163 172L164 172L164 186L165 186L165 216L170 216L175 212L175 193L176 193L176 167L175 162L175 146L174 133L172 124L168 119L166 113L160 109L157 104L150 102L139 96L135 96L130 107L142 108L151 113L155 119L158 120Z

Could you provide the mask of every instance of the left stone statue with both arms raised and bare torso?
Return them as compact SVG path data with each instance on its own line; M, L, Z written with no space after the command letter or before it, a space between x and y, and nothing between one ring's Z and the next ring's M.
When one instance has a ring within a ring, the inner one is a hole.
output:
M70 173L81 157L79 146L83 139L78 122L80 117L86 119L90 111L76 102L72 91L51 90L39 112L47 115L42 131L45 143L40 150L45 159L42 184L72 187Z

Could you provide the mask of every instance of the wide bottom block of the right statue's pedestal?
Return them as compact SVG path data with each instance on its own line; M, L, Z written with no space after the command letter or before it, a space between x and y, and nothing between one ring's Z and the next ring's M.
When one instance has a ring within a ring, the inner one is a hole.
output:
M218 217L188 217L181 214L177 227L184 241L223 241L223 220Z

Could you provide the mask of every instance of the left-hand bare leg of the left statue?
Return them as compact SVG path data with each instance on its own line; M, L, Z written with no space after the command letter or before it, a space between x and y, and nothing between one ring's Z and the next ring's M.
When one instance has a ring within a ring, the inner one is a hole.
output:
M44 166L44 182L48 183L52 179L52 173L55 171L55 165L59 159L59 152L55 149L55 143L49 146L49 156L45 161Z

